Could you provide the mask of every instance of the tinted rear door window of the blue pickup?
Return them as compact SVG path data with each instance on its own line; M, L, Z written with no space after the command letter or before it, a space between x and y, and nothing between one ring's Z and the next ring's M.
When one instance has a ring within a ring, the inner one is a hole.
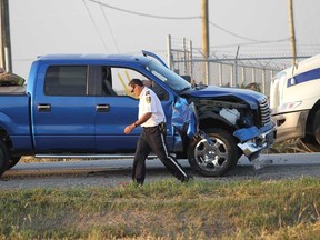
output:
M86 96L87 66L50 66L44 79L48 96Z

